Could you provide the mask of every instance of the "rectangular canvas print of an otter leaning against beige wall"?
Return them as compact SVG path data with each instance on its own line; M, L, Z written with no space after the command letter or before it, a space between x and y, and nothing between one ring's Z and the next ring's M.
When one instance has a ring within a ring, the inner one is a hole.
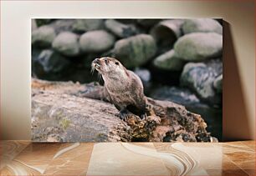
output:
M214 18L31 20L34 142L222 141Z

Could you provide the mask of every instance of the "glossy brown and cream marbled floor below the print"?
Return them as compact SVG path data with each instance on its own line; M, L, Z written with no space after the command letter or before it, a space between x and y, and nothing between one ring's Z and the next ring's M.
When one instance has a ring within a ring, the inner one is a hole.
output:
M1 141L1 175L256 175L255 141L30 143Z

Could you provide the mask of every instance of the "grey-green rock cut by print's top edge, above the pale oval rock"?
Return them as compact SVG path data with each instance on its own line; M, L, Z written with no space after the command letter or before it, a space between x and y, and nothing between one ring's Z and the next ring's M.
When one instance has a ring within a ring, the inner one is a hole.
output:
M103 19L76 19L72 27L76 33L84 33L104 28Z

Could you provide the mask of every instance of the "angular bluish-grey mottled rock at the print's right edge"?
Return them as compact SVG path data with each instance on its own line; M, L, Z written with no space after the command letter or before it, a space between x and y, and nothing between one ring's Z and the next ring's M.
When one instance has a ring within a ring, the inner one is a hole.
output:
M187 63L182 71L181 85L191 88L199 98L211 104L221 103L213 88L213 82L222 71L220 60L211 60L206 63Z

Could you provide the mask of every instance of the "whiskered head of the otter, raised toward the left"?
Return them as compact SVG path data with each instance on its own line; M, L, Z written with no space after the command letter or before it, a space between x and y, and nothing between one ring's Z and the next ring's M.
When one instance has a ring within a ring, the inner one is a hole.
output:
M92 69L96 69L103 78L128 76L126 68L115 58L95 58L92 62Z

